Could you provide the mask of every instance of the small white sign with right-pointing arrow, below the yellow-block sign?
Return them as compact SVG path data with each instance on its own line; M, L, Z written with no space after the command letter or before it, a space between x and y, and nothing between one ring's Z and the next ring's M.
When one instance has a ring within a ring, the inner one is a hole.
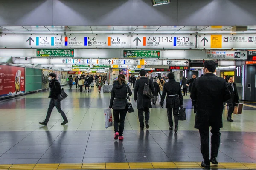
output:
M243 59L247 60L247 51L217 51L205 52L205 59Z

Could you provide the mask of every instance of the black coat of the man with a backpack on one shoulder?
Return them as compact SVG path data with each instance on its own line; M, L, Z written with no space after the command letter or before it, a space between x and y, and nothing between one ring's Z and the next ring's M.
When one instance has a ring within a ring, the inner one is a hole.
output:
M143 95L145 83L149 81L149 88L154 94L153 81L148 77L140 77L137 79L134 86L134 100L137 100L137 109L152 108L151 99Z

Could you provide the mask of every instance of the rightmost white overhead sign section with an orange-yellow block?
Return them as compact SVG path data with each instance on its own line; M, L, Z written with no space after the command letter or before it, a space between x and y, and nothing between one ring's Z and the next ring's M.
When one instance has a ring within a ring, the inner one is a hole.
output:
M201 35L198 48L256 48L256 35Z

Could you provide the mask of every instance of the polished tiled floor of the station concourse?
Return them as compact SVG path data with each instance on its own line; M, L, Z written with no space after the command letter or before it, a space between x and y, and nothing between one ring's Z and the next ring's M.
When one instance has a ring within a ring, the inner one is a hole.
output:
M49 91L0 101L0 170L4 169L1 169L3 166L15 169L12 166L17 164L29 164L32 169L38 164L58 164L55 168L58 169L61 164L66 163L74 166L76 163L78 166L70 169L88 169L87 165L91 163L104 164L103 169L116 169L116 166L107 166L108 163L118 162L125 163L123 169L158 169L157 162L169 164L167 169L172 168L170 164L175 162L173 168L198 168L198 162L202 161L199 133L194 128L195 114L189 96L184 97L183 105L187 120L179 122L177 133L168 130L166 109L154 105L151 108L149 130L139 130L135 110L134 113L127 114L124 141L115 141L113 127L105 129L104 125L103 109L108 108L110 93L99 94L96 88L90 93L80 93L74 86L72 90L65 87L65 91L69 96L61 102L61 107L69 119L67 125L60 125L63 120L56 109L52 112L48 126L38 124L45 118ZM135 103L133 104L136 108ZM233 115L232 123L225 121L227 108L224 110L224 128L221 129L218 155L218 161L223 165L220 164L217 168L232 169L233 166L229 168L227 163L236 167L241 165L243 168L239 169L256 166L240 164L256 163L255 106L255 103L244 103L243 114ZM150 163L151 166L137 168L143 167L138 165L143 162ZM178 167L179 162L183 165L194 162L196 166ZM133 164L138 166L131 168ZM129 168L125 168L127 165ZM159 169L162 168L164 166Z

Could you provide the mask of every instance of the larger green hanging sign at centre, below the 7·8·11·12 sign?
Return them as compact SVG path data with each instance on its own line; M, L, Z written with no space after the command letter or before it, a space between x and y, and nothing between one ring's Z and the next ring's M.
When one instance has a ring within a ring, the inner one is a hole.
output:
M160 58L160 50L124 50L125 58Z

